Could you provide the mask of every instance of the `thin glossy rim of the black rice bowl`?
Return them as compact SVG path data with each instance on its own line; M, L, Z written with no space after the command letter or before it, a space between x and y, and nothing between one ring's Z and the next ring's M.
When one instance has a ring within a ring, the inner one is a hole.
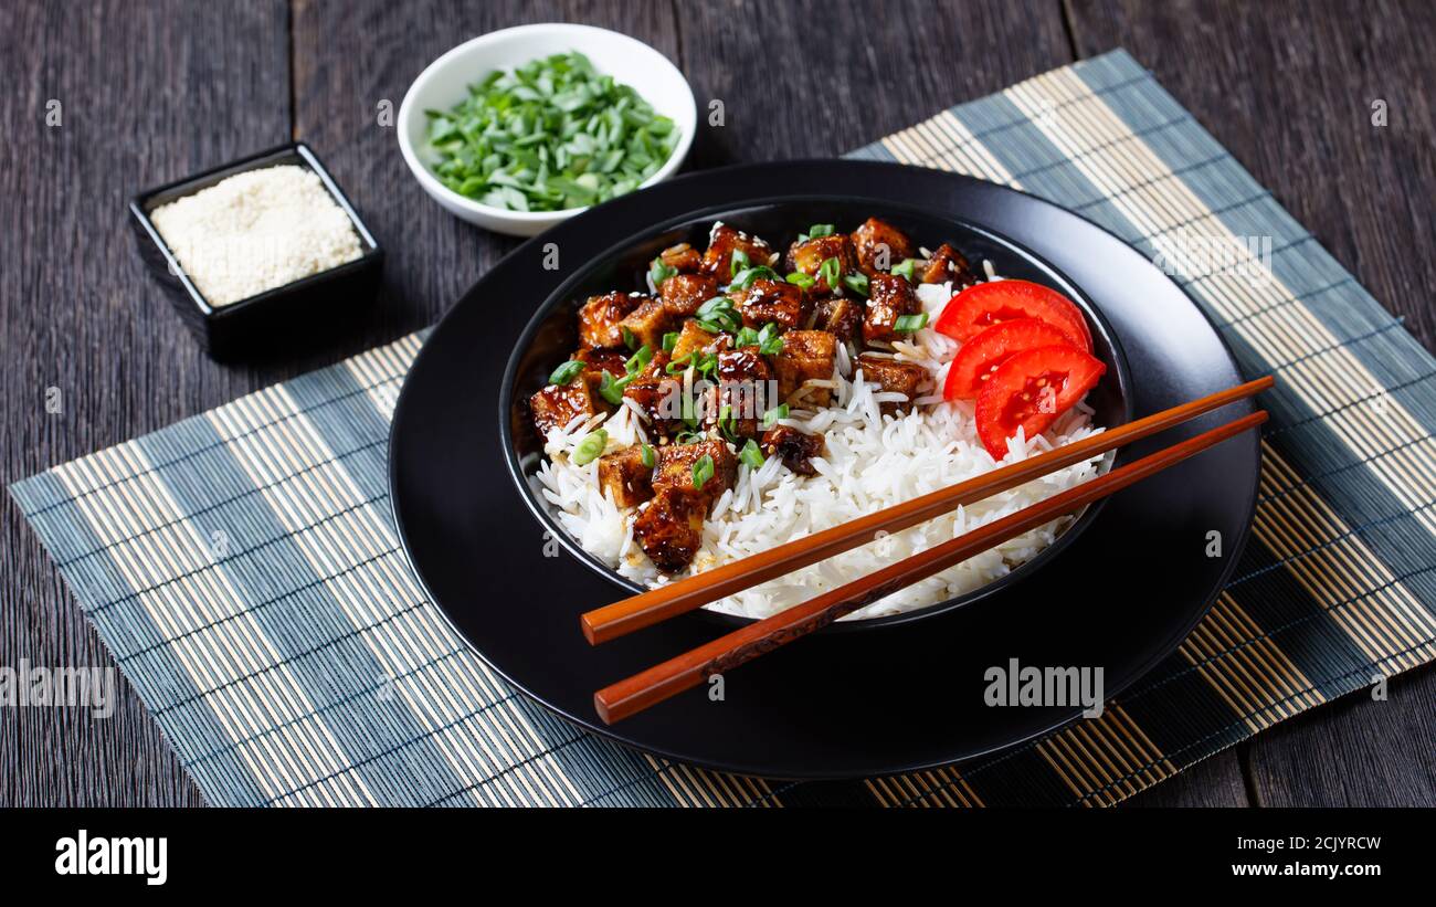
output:
M563 545L569 551L569 554L576 557L583 565L596 571L599 575L606 578L609 583L617 586L619 588L625 590L628 594L639 594L648 590L639 586L638 583L619 575L616 570L602 563L597 558L597 555L593 555L589 551L586 551L577 542L577 540L574 540L567 532L567 530L563 528L563 525L554 518L554 515L550 514L549 509L541 504L538 492L536 492L536 489L533 488L531 475L527 474L524 469L526 462L524 459L520 458L518 452L514 449L511 413L517 402L516 383L517 383L520 359L533 344L534 336L537 334L541 324L551 314L551 311L557 306L561 306L564 300L572 297L574 288L593 271L593 268L597 267L599 263L612 258L613 255L623 254L623 251L632 248L636 243L653 237L656 234L661 234L665 230L672 230L673 227L678 227L681 224L715 218L724 214L731 215L744 210L765 208L773 205L823 204L823 202L875 204L873 199L847 194L773 195L767 198L744 199L738 205L734 205L732 202L719 202L715 205L709 205L707 208L688 211L682 215L676 215L656 224L649 224L642 231L633 232L610 244L602 253L593 255L590 260L584 261L582 265L574 268L573 273L569 274L569 277L560 281L554 287L554 290L534 309L528 321L524 324L523 332L518 334L518 340L514 343L514 349L510 352L508 362L504 366L503 380L500 382L498 387L497 415L498 415L500 449L503 451L504 464L508 468L508 474L514 482L514 488L518 492L518 497L524 501L530 514L533 514L533 517L538 521L538 524L546 531L550 532L551 538L557 540L559 544ZM895 211L918 214L923 217L931 217L933 220L945 220L958 224L964 230L984 235L988 240L995 241L997 244L1012 250L1015 254L1025 257L1028 261L1037 264L1045 273L1054 276L1061 288L1068 294L1071 294L1077 301L1078 307L1081 307L1084 314L1088 316L1088 320L1093 323L1094 329L1093 333L1096 336L1100 336L1101 340L1111 350L1113 366L1114 366L1111 379L1116 382L1117 392L1122 399L1122 420L1117 422L1117 425L1123 425L1133 419L1134 395L1132 392L1132 372L1126 352L1122 347L1122 339L1117 336L1111 324L1107 323L1106 316L1101 314L1100 306L1097 306L1097 303L1073 278L1070 278L1064 271L1057 268L1057 265L1050 263L1045 257L1038 255L1035 251L1028 248L1025 244L1018 243L1017 240L1012 240L1011 237L997 230L984 227L982 224L978 224L976 221L968 217L933 212L931 210L918 205L893 204L893 202L883 202L883 204ZM1116 428L1116 426L1110 425L1103 428ZM1104 454L1103 471L1111 469L1119 459L1126 459L1126 456L1127 455L1124 451L1111 451ZM876 617L864 617L860 620L839 620L823 627L821 630L819 630L819 633L853 633L866 630L882 630L887 627L908 624L915 620L925 620L928 617L945 614L952 610L979 601L981 598L985 598L999 590L1004 590L1008 586L1012 586L1014 583L1020 583L1022 578L1031 575L1032 573L1035 573L1037 570L1043 568L1050 561L1053 561L1064 548L1067 548L1076 538L1078 538L1087 530L1087 527L1090 527L1096 521L1097 515L1106 507L1106 502L1107 502L1106 498L1103 498L1083 508L1081 512L1078 512L1076 518L1073 518L1073 521L1057 535L1057 538L1053 540L1051 544L1038 551L1030 560L1024 561L1022 564L1018 564L1007 574L989 583L985 583L978 588L962 593L959 596L954 596L952 598L946 598L943 601L936 601L929 606L912 608L908 611L900 611L896 614L882 614ZM692 613L704 620L722 624L728 629L744 627L760 620L755 617L745 617L741 614L714 611L708 607L695 608Z

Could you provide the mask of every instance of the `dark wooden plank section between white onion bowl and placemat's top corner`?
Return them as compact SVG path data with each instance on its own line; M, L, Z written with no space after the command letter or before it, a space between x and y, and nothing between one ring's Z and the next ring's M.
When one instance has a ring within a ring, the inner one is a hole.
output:
M717 99L725 115L699 135L694 166L841 155L1073 60L1051 0L678 9L699 112Z

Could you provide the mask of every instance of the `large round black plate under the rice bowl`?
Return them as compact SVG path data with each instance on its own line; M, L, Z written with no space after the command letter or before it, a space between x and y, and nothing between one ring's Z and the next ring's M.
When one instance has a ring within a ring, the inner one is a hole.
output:
M1120 342L1133 415L1241 379L1216 332L1143 255L1094 224L994 184L889 164L798 161L684 177L609 202L495 265L444 317L409 370L389 469L405 551L455 629L504 677L590 730L662 756L775 778L879 775L981 755L1073 718L1071 708L989 708L992 666L1101 667L1114 695L1167 656L1236 563L1256 494L1258 439L1208 451L1107 501L1041 570L968 607L801 640L725 679L605 728L593 692L714 637L686 616L590 647L577 616L625 590L559 544L505 465L505 366L538 304L626 237L705 211L826 197L844 210L923 210L1032 250L1091 300ZM817 218L814 218L817 220ZM846 218L844 218L846 220ZM920 241L936 241L920 237ZM544 267L559 254L561 268ZM998 263L1002 267L1002 263ZM1058 284L1061 286L1061 284ZM1140 456L1248 412L1234 406ZM1223 557L1208 557L1221 532Z

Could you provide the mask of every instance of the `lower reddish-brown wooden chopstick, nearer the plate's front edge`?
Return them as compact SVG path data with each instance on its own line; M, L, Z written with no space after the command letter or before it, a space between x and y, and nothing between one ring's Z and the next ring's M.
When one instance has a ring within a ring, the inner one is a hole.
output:
M1143 456L965 535L883 567L847 586L808 598L773 617L751 623L643 673L603 687L593 695L593 708L606 725L623 720L669 696L698 686L714 675L727 673L765 652L820 630L864 604L941 573L974 554L999 545L1057 517L1077 511L1265 420L1267 413L1256 410L1249 416Z

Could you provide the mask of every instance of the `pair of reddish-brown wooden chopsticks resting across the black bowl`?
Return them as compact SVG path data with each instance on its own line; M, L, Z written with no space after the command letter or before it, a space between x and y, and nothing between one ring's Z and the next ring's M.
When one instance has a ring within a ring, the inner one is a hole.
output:
M714 570L662 586L632 598L595 608L582 616L583 634L599 644L635 630L653 626L675 614L698 608L744 588L793 573L800 567L864 545L882 535L906 530L946 514L958 507L1030 482L1073 464L1091 459L1149 435L1180 425L1202 413L1242 400L1272 386L1269 376L1212 393L1199 400L1136 419L1114 429L1090 435L1031 459L994 469L948 488L905 501L867 517L836 525ZM1076 512L1134 482L1160 472L1267 420L1264 410L1228 422L1208 432L1157 451L1139 461L1111 469L1106 475L1063 491L1045 501L1022 508L926 551L890 564L846 586L810 598L791 608L751 623L714 642L656 664L626 680L607 686L593 696L593 706L605 723L629 718L682 690L704 683L757 656L794 639L820 630L857 608L899 588L925 580L1022 535L1058 517Z

